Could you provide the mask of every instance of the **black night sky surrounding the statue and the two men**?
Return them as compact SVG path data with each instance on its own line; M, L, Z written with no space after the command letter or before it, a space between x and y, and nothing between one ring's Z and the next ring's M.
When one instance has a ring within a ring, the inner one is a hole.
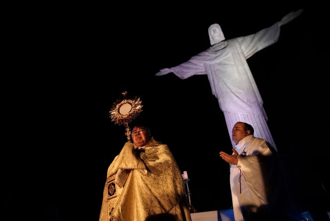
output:
M207 76L181 80L155 73L208 48L207 29L213 23L231 39L253 34L299 8L304 12L282 26L278 42L248 64L297 207L320 213L329 206L329 156L324 150L329 144L322 140L328 138L323 133L329 111L320 105L329 101L328 63L322 63L319 37L325 35L324 16L302 3L231 6L162 5L133 11L84 5L52 11L53 16L47 9L32 16L33 22L20 21L18 32L26 38L9 57L22 60L12 65L13 76L29 74L9 82L8 95L17 99L8 99L15 115L8 131L21 134L19 139L8 135L14 140L6 164L11 169L6 174L9 214L22 194L17 189L28 189L25 216L98 219L108 166L126 142L125 128L109 117L123 91L140 97L143 111L136 120L149 125L181 171L188 172L198 212L229 209L229 165L219 151L231 152L231 138Z

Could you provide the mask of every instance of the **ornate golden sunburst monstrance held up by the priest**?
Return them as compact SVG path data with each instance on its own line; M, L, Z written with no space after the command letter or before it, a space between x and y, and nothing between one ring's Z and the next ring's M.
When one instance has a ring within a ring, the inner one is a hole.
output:
M110 117L111 121L114 121L115 124L124 125L126 127L126 136L127 141L131 142L131 130L129 123L142 111L143 105L140 98L134 99L125 99L127 91L123 92L122 95L124 99L117 100L114 102L111 110Z

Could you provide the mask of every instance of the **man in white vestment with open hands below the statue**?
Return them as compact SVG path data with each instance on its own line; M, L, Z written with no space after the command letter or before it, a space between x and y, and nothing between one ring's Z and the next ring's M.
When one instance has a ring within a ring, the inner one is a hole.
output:
M285 197L280 194L285 193L281 190L276 151L266 140L253 134L250 124L237 122L232 129L233 154L220 152L220 157L230 164L235 221L299 220L293 205L282 202Z

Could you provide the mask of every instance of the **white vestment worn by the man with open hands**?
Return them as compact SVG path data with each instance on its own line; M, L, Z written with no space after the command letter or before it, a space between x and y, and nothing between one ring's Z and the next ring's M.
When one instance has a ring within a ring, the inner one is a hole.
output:
M248 135L236 146L238 164L230 165L230 188L235 221L243 221L252 212L268 204L267 187L274 173L272 152L261 138ZM247 219L249 220L249 219Z

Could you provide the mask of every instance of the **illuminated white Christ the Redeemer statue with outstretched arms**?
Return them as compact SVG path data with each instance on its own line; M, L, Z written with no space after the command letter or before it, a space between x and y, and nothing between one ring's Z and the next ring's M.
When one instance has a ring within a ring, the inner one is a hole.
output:
M255 136L267 140L277 150L267 126L263 100L246 59L277 42L280 27L301 14L300 9L256 34L225 41L218 24L208 28L211 47L189 61L160 70L156 76L173 72L181 79L207 75L212 93L218 99L231 137L236 122L246 122L255 129ZM234 146L234 143L232 143Z

